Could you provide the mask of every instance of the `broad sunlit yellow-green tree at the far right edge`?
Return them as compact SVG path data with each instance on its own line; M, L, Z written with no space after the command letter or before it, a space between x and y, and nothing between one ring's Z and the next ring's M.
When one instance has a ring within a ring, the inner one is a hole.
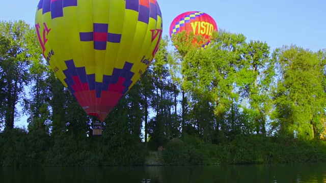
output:
M319 137L323 124L324 64L318 54L291 45L276 50L280 79L275 91L280 132L302 139Z

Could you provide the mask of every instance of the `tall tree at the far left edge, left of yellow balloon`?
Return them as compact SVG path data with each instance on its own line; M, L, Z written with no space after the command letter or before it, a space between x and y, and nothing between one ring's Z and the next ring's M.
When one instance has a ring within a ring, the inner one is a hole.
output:
M4 120L6 129L13 129L15 116L19 114L16 105L24 99L24 86L30 82L29 68L35 59L35 44L30 41L34 39L34 29L22 20L2 21L0 32L8 42L0 60Z

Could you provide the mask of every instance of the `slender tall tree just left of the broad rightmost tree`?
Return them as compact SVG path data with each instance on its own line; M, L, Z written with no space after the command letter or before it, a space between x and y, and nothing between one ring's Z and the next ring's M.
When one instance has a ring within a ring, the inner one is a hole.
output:
M241 98L245 102L243 108L250 115L250 123L256 134L266 136L266 119L271 110L270 89L274 78L274 59L269 57L269 46L260 41L250 41L243 50L241 72L237 74L237 85ZM248 108L247 108L247 105ZM249 124L248 124L249 125Z

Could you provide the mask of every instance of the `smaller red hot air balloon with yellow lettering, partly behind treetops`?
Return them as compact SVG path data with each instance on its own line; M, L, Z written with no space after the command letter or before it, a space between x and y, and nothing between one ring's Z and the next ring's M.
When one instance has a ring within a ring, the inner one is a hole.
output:
M173 34L178 34L185 31L187 34L193 32L194 35L201 35L208 41L206 43L200 43L203 48L206 48L210 44L209 37L213 31L218 31L218 25L215 20L206 13L199 11L189 11L178 15L170 25L170 38ZM194 44L196 41L193 41Z

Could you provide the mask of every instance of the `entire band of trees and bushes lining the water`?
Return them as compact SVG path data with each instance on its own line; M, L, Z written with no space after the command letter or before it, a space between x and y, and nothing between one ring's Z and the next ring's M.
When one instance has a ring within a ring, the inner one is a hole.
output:
M325 49L271 50L221 29L207 49L178 34L176 50L165 36L94 137L98 119L49 69L34 26L0 31L0 166L326 162Z

